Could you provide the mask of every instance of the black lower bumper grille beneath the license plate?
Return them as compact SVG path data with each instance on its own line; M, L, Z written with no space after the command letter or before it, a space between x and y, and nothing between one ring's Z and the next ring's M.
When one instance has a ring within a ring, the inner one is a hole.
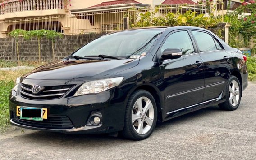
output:
M13 112L13 121L20 125L26 125L37 128L45 129L71 129L73 128L72 122L67 116L48 116L47 119L43 121L32 121L20 119L16 112Z

